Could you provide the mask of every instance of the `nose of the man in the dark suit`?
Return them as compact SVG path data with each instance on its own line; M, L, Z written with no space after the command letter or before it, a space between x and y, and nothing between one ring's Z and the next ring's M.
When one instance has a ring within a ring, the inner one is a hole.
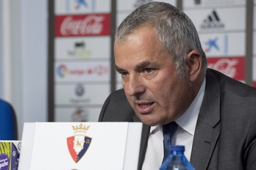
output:
M140 75L130 75L129 80L123 84L124 90L129 96L138 96L145 92L145 86Z

